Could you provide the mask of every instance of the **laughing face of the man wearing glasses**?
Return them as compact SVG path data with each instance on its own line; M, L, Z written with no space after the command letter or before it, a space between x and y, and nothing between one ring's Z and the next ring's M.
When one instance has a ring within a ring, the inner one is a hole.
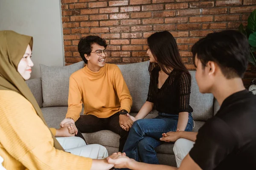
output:
M100 68L105 66L107 55L103 50L105 50L104 46L94 43L92 45L92 52L90 53L90 56L84 54L84 57L88 60L87 67L91 71L99 71ZM102 52L102 54L99 56L97 52Z

